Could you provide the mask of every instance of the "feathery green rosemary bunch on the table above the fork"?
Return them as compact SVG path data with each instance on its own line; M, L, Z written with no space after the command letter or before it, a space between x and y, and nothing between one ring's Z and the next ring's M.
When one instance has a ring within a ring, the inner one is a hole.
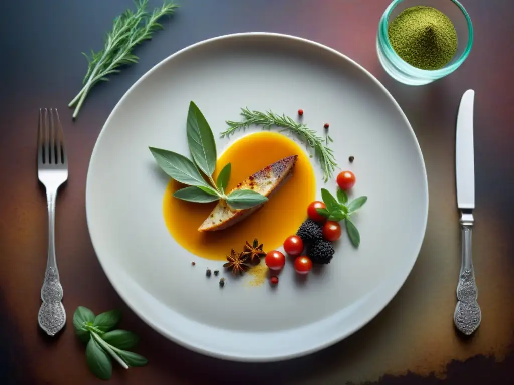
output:
M129 8L115 18L113 29L105 36L105 46L102 50L98 52L91 50L91 56L83 52L88 62L83 80L84 86L75 99L68 104L68 107L75 107L74 119L91 88L100 81L108 81L107 75L120 72L118 69L120 66L137 63L139 58L132 53L134 47L151 39L155 31L163 28L157 20L164 15L173 14L178 7L174 3L165 2L162 7L155 8L150 13L146 11L148 0L138 0L135 4L137 7L135 12Z

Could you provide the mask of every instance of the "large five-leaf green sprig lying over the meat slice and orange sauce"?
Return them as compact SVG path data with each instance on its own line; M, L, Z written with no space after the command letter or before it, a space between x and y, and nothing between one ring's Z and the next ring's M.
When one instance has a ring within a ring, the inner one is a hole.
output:
M197 203L225 199L233 209L258 206L268 200L253 190L234 190L230 194L225 194L232 170L230 163L223 167L217 180L214 181L212 175L217 161L216 141L204 114L194 102L189 104L187 134L189 150L194 162L176 152L150 147L160 168L177 182L189 186L175 191L173 194L175 198Z

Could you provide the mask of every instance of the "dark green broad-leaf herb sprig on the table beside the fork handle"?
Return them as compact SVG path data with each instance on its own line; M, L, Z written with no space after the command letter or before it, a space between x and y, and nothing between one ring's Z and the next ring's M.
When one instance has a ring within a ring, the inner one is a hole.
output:
M113 330L120 320L120 310L111 310L95 317L83 306L77 307L73 315L75 334L87 343L87 365L102 380L108 380L113 373L111 357L124 369L141 367L148 362L143 356L125 350L134 348L139 337L126 330Z

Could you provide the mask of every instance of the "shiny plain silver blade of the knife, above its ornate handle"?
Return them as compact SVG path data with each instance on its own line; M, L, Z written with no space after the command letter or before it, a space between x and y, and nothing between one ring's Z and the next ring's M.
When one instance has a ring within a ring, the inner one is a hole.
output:
M457 206L475 207L475 162L473 149L473 106L475 91L467 90L462 96L457 115L455 145L455 175L457 179Z

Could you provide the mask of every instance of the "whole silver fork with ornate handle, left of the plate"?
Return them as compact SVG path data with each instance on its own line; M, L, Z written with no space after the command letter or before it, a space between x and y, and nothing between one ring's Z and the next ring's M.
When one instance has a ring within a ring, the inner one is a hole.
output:
M39 110L38 120L38 178L45 186L48 205L48 259L45 279L41 287L43 303L38 323L49 336L56 335L66 323L66 312L61 302L63 288L59 282L54 237L57 190L68 179L68 160L64 147L63 130L57 109Z

